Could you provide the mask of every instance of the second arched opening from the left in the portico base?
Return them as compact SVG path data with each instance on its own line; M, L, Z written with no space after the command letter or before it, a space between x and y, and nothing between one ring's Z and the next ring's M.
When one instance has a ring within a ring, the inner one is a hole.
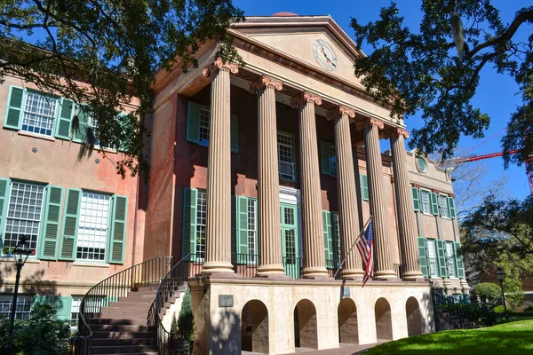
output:
M294 308L294 340L297 348L318 349L316 309L309 300L301 300Z

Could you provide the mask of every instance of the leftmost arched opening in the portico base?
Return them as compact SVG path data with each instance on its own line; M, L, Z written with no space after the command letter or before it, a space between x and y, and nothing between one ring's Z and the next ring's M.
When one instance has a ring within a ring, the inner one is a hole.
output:
M268 310L258 300L244 304L241 315L241 346L243 351L267 354L268 348Z

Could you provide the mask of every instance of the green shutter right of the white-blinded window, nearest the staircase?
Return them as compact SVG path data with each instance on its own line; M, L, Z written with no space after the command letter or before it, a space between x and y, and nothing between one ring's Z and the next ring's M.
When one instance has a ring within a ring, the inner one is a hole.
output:
M111 217L111 231L109 233L107 262L109 264L124 264L124 249L126 248L126 231L128 221L128 198L113 196L113 213Z

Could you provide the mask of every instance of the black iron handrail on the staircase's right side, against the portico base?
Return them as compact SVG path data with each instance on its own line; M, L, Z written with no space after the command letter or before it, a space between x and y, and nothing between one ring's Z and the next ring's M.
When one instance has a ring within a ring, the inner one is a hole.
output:
M155 302L150 308L148 319L152 323L150 325L157 327L155 341L159 354L175 354L177 351L176 342L178 340L176 332L172 328L167 329L163 325L163 308L167 308L175 293L183 291L183 287L190 277L202 271L202 265L202 257L197 257L195 254L184 256L164 275L157 288Z

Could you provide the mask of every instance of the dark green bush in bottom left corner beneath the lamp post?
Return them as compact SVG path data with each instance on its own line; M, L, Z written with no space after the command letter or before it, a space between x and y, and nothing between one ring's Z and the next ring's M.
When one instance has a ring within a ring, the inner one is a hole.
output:
M49 304L35 304L30 319L15 319L13 353L17 355L68 354L70 326L68 320L52 320L54 311ZM9 317L0 317L0 353L7 353Z

